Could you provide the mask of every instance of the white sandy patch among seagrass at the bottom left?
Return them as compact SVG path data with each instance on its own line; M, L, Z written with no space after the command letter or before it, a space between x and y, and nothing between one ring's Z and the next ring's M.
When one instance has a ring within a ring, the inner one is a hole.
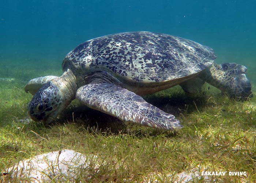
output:
M18 164L7 169L12 178L18 180L29 179L30 182L50 182L52 179L65 182L74 181L79 169L88 168L90 160L97 156L85 156L74 150L64 149L38 155L32 159L19 161ZM98 164L93 164L95 171ZM83 175L89 176L89 175Z

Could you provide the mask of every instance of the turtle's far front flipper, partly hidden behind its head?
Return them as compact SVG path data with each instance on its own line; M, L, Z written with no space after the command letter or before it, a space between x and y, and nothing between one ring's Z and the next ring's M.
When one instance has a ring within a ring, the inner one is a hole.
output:
M50 80L57 78L57 76L44 76L31 79L25 86L25 91L35 95L35 93L42 88L42 86L48 83Z

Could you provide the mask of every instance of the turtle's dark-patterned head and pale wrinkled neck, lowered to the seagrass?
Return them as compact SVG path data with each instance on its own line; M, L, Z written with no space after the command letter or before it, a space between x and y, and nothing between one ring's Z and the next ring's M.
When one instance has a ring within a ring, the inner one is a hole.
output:
M50 123L67 107L76 93L76 80L68 70L40 88L29 103L29 114L34 121Z

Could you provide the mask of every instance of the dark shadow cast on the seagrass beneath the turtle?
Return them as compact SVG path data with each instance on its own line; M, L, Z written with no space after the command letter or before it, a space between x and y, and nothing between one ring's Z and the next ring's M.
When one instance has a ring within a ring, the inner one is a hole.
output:
M183 92L176 92L172 96L166 95L147 95L143 98L154 106L160 108L166 113L173 114L176 118L180 117L180 113L189 114L192 111L200 109L206 105L208 96L204 94L197 94L193 96L185 95ZM130 124L124 125L116 117L93 110L75 100L71 105L60 115L56 123L75 122L78 125L84 126L89 131L105 134L136 134L144 136L143 127L140 125ZM147 128L147 127L146 127ZM151 129L151 128L150 128ZM151 129L150 135L155 136L163 133L163 130ZM145 134L148 135L148 134ZM167 133L167 136L175 136L176 133Z

